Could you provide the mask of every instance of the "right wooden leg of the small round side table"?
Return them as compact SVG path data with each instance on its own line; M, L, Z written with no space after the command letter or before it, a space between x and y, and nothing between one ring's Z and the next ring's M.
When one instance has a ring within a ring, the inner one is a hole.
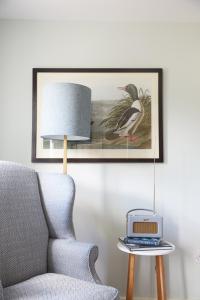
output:
M158 300L166 300L164 262L162 255L156 256L156 275Z

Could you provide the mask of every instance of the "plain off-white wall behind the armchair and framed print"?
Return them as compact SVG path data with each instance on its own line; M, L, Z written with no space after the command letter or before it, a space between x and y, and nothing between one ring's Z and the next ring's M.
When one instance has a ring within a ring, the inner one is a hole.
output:
M157 207L177 251L166 260L168 294L200 299L200 25L0 22L0 159L31 164L32 67L162 67L165 163ZM97 268L125 294L127 257L116 249L125 213L151 207L152 164L70 164L77 185L77 237L99 246ZM153 297L153 262L137 266L136 294ZM170 273L170 276L169 276Z

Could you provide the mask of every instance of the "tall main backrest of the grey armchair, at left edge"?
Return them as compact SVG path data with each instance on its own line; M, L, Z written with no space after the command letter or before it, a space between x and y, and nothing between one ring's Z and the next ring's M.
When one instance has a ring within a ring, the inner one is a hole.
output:
M0 162L0 280L3 287L47 271L48 229L35 171Z

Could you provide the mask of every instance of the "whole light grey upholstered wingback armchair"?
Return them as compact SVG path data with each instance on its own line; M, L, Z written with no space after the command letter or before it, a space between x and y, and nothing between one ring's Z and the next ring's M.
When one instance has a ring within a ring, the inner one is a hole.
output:
M95 271L98 248L76 241L70 176L0 163L0 300L117 300Z

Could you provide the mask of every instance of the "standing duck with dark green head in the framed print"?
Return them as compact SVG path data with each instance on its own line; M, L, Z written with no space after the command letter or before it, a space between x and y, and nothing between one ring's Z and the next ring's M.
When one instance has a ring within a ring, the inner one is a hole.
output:
M119 87L128 95L127 99L119 101L101 124L104 124L111 130L106 132L106 139L113 140L119 137L129 137L132 141L137 138L134 134L144 118L144 106L139 99L138 89L134 84L128 84L125 87ZM115 119L115 124L113 120Z

